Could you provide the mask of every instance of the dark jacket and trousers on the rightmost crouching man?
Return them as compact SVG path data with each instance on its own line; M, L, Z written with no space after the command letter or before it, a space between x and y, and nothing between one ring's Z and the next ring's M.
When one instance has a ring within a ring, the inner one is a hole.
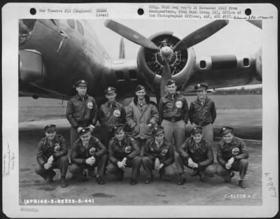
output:
M234 158L230 169L225 169L225 164ZM242 139L233 136L232 142L226 143L223 139L218 143L217 160L218 167L216 174L226 181L230 180L231 171L239 171L240 179L243 180L248 169L248 151Z

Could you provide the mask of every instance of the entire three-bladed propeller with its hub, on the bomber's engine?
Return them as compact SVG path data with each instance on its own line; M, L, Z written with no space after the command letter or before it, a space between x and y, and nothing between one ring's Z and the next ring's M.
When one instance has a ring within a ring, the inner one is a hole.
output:
M121 36L127 38L128 40L134 43L144 46L144 48L149 48L151 50L157 50L158 52L160 52L160 56L162 57L165 63L162 68L162 80L160 83L161 97L165 94L165 86L167 85L167 80L172 78L169 60L174 55L174 52L178 50L186 50L191 46L196 45L201 41L204 41L204 39L215 34L227 24L228 20L215 20L214 22L211 22L205 25L204 27L197 29L196 31L193 31L193 33L189 34L185 38L181 39L181 41L176 43L176 45L174 45L173 48L169 45L163 45L161 48L159 48L157 45L155 45L155 43L153 43L153 41L146 38L145 36L142 36L137 31L134 31L133 29L124 26L123 24L120 24L113 20L106 20L105 22L105 26L115 31L117 34L120 34Z

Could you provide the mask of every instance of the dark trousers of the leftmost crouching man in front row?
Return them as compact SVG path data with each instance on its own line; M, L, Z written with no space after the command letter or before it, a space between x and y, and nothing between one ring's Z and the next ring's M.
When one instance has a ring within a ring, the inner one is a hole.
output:
M36 167L35 169L35 172L46 180L48 176L55 176L55 171L53 171L53 169L59 169L60 175L62 177L65 177L68 169L68 164L68 157L62 156L52 162L52 167L50 169L45 169L43 166L38 165L38 167Z

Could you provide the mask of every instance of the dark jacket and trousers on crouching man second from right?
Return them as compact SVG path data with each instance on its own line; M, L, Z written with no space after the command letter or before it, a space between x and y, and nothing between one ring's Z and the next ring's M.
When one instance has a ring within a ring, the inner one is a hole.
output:
M188 168L188 160L191 158L193 162L197 163L198 167L195 171L202 173L204 178L213 176L216 172L214 163L214 154L211 145L202 139L198 144L195 143L193 137L186 139L185 143L179 149L179 156L175 156L175 162L179 168L179 174L183 173L183 165Z

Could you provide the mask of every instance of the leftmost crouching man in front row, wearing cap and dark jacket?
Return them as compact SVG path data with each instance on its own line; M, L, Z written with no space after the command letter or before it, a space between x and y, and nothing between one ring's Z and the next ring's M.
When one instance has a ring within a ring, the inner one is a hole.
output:
M35 169L36 174L42 176L49 183L53 181L55 171L60 169L61 187L67 187L66 172L68 169L68 148L65 139L57 134L56 125L46 125L45 137L41 139L38 146L37 161L39 166Z

